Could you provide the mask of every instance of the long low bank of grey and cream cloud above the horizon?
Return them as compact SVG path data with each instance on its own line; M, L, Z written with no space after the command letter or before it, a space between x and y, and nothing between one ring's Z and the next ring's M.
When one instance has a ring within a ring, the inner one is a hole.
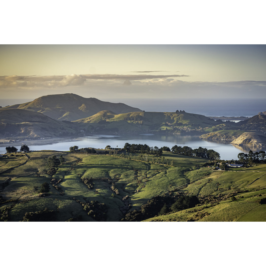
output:
M187 75L152 74L72 74L57 76L0 76L3 98L40 97L45 93L77 93L83 97L219 97L260 98L265 95L266 81L202 82L184 81ZM127 86L126 86L127 85ZM138 95L138 96L136 96Z

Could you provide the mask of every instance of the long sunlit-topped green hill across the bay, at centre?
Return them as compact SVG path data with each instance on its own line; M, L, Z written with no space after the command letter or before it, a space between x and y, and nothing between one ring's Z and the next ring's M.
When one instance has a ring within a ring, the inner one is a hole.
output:
M186 133L202 131L205 127L217 125L213 119L204 115L186 112L130 112L115 114L103 110L91 117L75 120L80 129L87 132L117 133Z

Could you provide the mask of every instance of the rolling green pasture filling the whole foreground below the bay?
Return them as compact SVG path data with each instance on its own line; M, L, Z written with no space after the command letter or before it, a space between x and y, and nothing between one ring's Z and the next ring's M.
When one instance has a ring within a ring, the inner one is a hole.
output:
M207 159L166 151L164 163L155 163L156 156L151 155L137 160L140 154L132 154L132 160L128 154L37 151L28 155L0 159L1 167L9 164L0 174L0 184L5 182L0 187L0 221L22 221L26 212L45 208L53 211L52 221L120 221L153 198L174 200L180 195L197 196L200 204L164 215L158 211L143 220L266 221L266 205L258 203L266 196L265 164L248 171L214 171L202 167ZM53 155L62 155L65 163L49 172L47 158ZM50 190L39 193L44 182Z

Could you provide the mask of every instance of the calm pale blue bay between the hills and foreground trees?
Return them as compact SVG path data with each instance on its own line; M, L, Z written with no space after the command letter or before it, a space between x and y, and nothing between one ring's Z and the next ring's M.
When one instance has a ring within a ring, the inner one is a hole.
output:
M259 152L261 148L252 148L248 146L237 146L230 143L223 144L224 141L208 141L200 139L196 135L182 134L119 134L119 135L86 135L73 138L53 138L45 140L24 140L22 142L1 144L0 153L6 152L6 146L15 146L20 149L22 144L29 146L30 150L55 150L69 151L69 147L78 146L79 148L92 147L95 149L104 149L107 145L112 148L123 148L124 144L147 144L150 147L167 146L170 149L174 146L189 146L192 149L203 147L213 149L219 152L222 160L237 159L240 152L248 153L250 150Z

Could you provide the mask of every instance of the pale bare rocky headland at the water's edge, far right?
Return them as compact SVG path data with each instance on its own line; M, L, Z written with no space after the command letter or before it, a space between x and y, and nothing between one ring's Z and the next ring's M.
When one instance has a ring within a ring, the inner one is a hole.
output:
M231 144L251 147L266 147L266 135L244 132L238 138L233 140Z

